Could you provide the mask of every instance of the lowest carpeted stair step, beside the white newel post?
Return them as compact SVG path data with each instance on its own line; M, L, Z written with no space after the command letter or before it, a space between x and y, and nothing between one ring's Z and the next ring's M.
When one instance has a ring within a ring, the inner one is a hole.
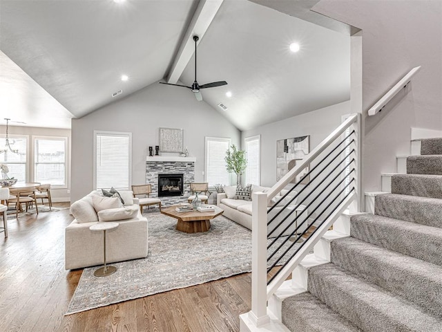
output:
M308 292L294 295L282 302L282 324L290 331L361 331Z

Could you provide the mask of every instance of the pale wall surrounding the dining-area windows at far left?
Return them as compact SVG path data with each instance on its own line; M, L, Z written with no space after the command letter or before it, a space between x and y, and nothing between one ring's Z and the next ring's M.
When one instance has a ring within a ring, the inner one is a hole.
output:
M0 132L6 133L6 126L0 126ZM68 183L65 188L51 188L50 195L52 197L52 201L55 202L68 202L70 199L70 129L53 129L53 128L39 128L39 127L19 127L19 126L8 126L8 134L9 135L20 135L28 137L28 178L26 181L33 182L32 174L33 174L33 166L32 166L32 136L59 136L59 137L67 137L68 138ZM21 180L21 179L19 179Z

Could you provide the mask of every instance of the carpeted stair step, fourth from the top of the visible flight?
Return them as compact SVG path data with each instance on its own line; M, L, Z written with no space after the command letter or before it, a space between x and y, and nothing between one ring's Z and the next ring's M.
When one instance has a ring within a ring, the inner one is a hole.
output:
M407 195L379 195L374 214L442 228L442 200L410 199Z

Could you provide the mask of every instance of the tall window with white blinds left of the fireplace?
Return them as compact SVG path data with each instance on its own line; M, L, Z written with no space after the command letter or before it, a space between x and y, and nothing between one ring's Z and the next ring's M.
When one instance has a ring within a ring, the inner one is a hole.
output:
M131 186L132 133L94 131L95 189Z

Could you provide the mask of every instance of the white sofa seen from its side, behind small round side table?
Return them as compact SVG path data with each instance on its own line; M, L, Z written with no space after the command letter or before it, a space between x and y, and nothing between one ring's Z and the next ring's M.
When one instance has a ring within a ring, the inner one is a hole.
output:
M99 222L115 221L118 228L106 231L106 261L126 261L148 254L148 222L140 212L138 199L132 191L119 191L124 205L111 206L97 212L97 201L112 201L101 192L93 191L71 205L75 220L65 230L65 268L71 270L103 264L103 232L89 230ZM95 196L95 199L94 199ZM117 199L118 200L118 199ZM95 203L95 208L94 208ZM106 208L106 205L104 206Z

